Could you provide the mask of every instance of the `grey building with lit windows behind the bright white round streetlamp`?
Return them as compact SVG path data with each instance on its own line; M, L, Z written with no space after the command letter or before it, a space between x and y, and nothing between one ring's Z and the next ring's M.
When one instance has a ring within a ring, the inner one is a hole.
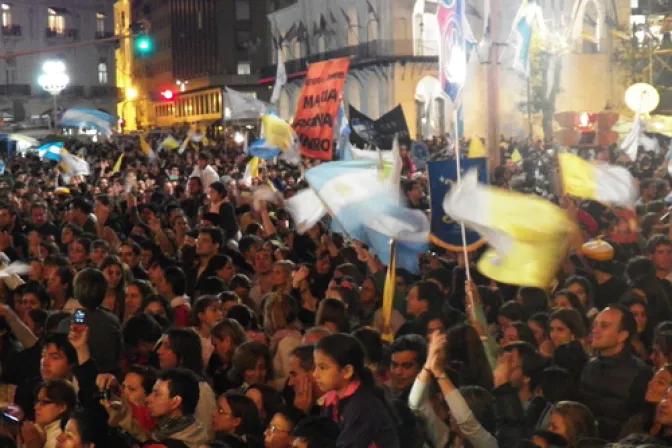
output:
M2 124L49 114L50 95L37 84L47 60L65 63L70 84L58 98L59 109L73 106L114 114L117 102L114 43L95 43L112 35L113 0L0 0L0 112ZM63 49L71 44L76 48ZM24 52L42 51L22 55ZM11 57L12 54L16 56Z

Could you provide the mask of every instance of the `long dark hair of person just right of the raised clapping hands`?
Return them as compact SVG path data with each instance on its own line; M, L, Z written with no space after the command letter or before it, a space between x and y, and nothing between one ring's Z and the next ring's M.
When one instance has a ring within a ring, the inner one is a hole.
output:
M446 356L459 365L459 383L492 389L492 369L483 342L471 325L460 324L448 330Z

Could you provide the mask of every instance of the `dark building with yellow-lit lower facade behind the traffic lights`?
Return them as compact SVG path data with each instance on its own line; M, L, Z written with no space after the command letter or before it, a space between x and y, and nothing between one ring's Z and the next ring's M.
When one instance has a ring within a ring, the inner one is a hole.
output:
M121 0L120 0L121 1ZM133 20L147 20L155 51L134 56L133 101L143 128L198 123L218 126L225 117L225 87L260 98L272 40L266 14L283 0L136 0ZM176 92L166 101L159 92Z

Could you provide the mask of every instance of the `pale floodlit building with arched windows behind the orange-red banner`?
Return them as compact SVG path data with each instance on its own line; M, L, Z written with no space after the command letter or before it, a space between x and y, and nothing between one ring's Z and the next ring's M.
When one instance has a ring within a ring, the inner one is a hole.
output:
M413 137L454 134L454 104L438 80L439 1L297 0L270 13L273 39L281 43L289 78L280 97L280 115L287 120L294 115L310 63L350 57L343 92L346 104L374 119L401 104ZM471 54L458 101L464 105L465 135L497 142L500 132L519 135L529 129L521 108L527 100L527 80L511 69L511 56L505 53L521 0L490 3L485 41L493 44L480 45ZM629 26L630 3L543 2L544 23L555 26L554 32L564 39L557 110L596 112L607 104L622 103L624 87L611 59L616 31ZM485 2L467 0L467 4L467 20L481 40ZM273 52L271 64L262 71L262 83L273 84L277 57ZM537 134L541 120L533 118Z

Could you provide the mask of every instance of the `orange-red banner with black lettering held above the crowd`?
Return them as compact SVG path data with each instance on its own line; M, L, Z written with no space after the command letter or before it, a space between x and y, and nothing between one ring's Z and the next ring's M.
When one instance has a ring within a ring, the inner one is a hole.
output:
M332 160L334 126L349 67L350 59L341 58L317 62L308 68L292 124L301 155Z

